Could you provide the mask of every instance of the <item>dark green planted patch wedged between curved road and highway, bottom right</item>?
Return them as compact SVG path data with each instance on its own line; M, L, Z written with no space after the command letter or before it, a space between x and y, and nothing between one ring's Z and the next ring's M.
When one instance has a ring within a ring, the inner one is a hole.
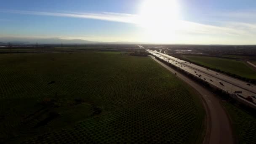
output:
M239 143L256 144L256 117L227 102L224 102L224 107L231 116Z

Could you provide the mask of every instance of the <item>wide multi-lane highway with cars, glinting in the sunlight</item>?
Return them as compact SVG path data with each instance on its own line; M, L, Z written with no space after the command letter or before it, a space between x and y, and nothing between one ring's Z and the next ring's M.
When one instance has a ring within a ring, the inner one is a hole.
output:
M152 55L160 59L163 59L164 61L167 61L170 64L173 64L176 67L179 67L180 69L183 69L186 72L189 72L192 75L195 75L198 78L201 78L202 80L207 81L208 83L222 89L223 91L226 91L229 94L232 94L235 91L242 91L242 93L239 95L244 98L247 98L248 96L252 96L252 95L256 96L256 85L253 85L253 84L248 85L248 83L242 80L238 80L233 77L224 75L222 73L215 72L213 70L206 69L204 67L200 67L195 64L191 64L187 61L177 59L173 56L169 56L164 53L159 53L157 51L152 51L149 49L146 49L146 51L148 51L149 53L151 53ZM221 83L223 85L221 85ZM241 101L244 101L256 107L255 104L241 98L240 96L238 96L237 98L240 99ZM252 97L252 99L254 102L256 102L255 98Z

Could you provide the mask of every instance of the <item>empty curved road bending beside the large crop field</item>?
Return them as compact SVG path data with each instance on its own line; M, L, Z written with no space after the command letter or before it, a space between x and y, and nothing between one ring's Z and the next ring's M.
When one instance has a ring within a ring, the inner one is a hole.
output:
M191 85L201 94L207 113L207 128L203 144L234 144L229 117L222 107L219 98L203 86L158 61L154 56L151 57L172 73L177 73L177 77Z

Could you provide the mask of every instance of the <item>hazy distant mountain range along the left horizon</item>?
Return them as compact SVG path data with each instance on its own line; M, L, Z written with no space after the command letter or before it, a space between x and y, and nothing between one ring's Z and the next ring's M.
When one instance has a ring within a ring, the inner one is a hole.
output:
M12 44L21 44L21 45L29 45L29 44L97 44L97 43L117 43L117 44L136 44L135 42L94 42L88 40L65 40L57 37L53 38L22 38L22 37L0 37L0 45L6 45L7 43Z

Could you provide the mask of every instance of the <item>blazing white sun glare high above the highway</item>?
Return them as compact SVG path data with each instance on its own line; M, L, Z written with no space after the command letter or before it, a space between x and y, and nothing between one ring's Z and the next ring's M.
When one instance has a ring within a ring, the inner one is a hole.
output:
M138 23L145 29L150 41L164 42L175 38L179 18L176 0L144 0L140 6Z

